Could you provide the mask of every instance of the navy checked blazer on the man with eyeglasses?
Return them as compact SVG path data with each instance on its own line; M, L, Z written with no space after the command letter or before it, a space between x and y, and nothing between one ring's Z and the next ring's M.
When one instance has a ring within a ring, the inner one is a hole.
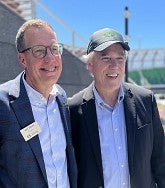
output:
M77 168L70 135L69 112L57 97L66 136L68 175L77 187ZM20 130L34 122L21 75L0 86L0 187L46 188L46 170L38 135L25 141Z

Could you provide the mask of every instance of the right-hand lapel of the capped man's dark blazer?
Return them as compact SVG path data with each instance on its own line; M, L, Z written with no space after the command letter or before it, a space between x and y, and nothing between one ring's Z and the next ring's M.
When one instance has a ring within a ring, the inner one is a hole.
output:
M127 131L127 146L128 146L128 162L130 174L133 173L133 156L135 147L135 133L136 133L136 108L133 93L130 88L124 87L124 110L125 110L125 121Z

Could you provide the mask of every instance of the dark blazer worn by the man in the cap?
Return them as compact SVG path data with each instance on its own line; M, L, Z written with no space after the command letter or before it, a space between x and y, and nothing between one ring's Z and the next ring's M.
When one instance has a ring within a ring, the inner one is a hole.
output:
M165 188L165 138L151 91L124 84L131 188ZM92 86L68 100L78 188L103 188L103 169Z

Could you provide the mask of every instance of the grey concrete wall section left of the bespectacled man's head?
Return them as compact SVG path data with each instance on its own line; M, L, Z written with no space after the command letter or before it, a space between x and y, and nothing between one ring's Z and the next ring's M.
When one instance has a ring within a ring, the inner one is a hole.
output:
M22 68L17 61L15 35L24 22L0 3L0 83L13 79Z

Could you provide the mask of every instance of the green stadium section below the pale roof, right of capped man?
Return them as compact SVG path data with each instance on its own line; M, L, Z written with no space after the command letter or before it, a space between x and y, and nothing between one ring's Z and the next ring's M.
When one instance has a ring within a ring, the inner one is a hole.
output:
M143 69L141 71L130 71L129 77L138 85L141 85L142 77L150 84L165 84L165 68Z

